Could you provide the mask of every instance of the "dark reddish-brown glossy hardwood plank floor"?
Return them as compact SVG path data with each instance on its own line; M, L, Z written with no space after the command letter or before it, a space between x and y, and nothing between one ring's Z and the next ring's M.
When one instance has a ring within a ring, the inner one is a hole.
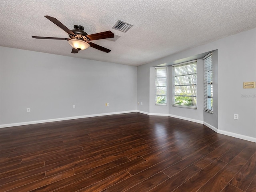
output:
M255 192L256 144L166 116L0 129L0 191Z

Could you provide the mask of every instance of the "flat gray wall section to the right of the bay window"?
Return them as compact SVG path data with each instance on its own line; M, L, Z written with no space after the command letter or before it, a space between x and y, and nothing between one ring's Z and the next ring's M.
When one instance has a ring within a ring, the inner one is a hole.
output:
M256 138L256 89L243 88L256 81L256 29L218 44L218 129Z

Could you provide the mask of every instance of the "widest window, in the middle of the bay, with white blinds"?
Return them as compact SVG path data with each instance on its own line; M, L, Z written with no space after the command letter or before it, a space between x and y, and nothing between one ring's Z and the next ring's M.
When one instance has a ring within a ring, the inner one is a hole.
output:
M172 105L197 108L197 61L172 66Z

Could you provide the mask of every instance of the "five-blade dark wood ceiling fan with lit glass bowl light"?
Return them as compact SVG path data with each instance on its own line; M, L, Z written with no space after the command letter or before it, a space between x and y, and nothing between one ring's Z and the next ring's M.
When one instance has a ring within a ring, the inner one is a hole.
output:
M74 25L73 30L69 30L64 24L62 24L59 20L57 20L54 17L45 16L48 20L56 24L58 27L62 28L65 32L68 33L70 38L58 38L58 37L38 37L38 36L32 36L32 38L36 39L56 39L56 40L67 40L68 43L73 47L71 53L78 53L80 50L87 49L88 47L92 47L95 49L98 49L100 51L109 53L111 50L104 48L102 46L99 46L95 43L92 43L90 41L92 40L98 40L98 39L106 39L106 38L113 38L114 33L111 31L105 31L101 33L95 33L88 35L86 32L84 32L84 27L80 25Z

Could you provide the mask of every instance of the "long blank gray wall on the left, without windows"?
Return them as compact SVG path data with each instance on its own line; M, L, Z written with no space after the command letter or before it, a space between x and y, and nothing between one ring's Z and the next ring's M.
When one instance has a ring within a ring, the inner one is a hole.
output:
M136 110L136 85L135 66L0 47L0 124Z

